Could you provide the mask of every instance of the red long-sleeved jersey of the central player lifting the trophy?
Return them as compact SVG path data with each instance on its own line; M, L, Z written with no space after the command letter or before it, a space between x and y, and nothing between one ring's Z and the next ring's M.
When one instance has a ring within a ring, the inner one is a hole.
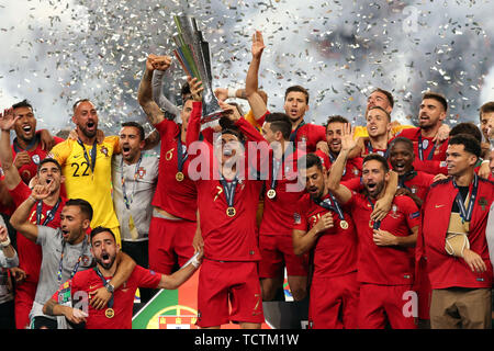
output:
M189 120L187 133L188 147L199 139L200 117L202 103L194 102ZM237 123L240 129L254 127L244 118ZM254 129L255 131L255 129ZM252 132L254 133L254 132ZM256 134L259 134L257 131ZM258 261L260 253L258 248L258 233L256 225L257 204L262 182L252 180L247 172L237 170L242 176L237 180L234 193L235 214L229 216L226 201L226 191L220 181L217 160L213 154L213 145L203 141L200 152L190 155L191 165L201 155L207 159L207 169L201 167L202 177L195 181L198 190L198 207L201 218L201 231L204 239L204 257L217 261ZM202 152L206 155L202 155ZM249 172L249 148L245 148L244 168ZM245 174L243 174L245 173ZM232 181L227 182L232 184ZM229 212L232 214L233 212Z

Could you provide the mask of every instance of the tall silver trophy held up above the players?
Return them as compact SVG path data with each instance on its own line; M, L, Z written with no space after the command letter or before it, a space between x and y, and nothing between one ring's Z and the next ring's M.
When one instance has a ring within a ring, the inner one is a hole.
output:
M198 29L195 19L187 15L175 15L178 34L173 35L177 48L173 50L180 66L187 75L202 81L202 118L203 127L217 123L222 109L214 95L211 75L210 45Z

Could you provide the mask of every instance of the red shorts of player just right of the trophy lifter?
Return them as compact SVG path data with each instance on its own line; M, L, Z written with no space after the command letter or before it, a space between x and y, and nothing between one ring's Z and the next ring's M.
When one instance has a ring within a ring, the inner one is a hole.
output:
M293 240L289 235L259 235L259 278L283 276L283 267L290 276L307 276L308 254L293 253ZM284 262L284 264L283 264Z

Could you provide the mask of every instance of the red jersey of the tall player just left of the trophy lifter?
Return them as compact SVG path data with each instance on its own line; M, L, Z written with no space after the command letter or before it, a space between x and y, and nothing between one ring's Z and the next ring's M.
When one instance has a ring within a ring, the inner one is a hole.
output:
M177 180L180 126L175 122L164 120L155 127L161 138L161 148L158 183L151 204L173 216L195 222L198 193L194 182L188 177L189 158L181 170L184 174L183 180Z

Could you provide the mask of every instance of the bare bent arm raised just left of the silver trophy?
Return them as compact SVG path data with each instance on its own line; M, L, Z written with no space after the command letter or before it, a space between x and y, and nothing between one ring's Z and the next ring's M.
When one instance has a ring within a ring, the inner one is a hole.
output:
M146 69L137 91L137 101L143 107L144 113L146 113L149 123L156 125L165 120L165 114L161 109L159 109L158 104L153 100L151 80L153 71L155 70L155 67L153 66L154 57L156 56L149 55L146 60Z

